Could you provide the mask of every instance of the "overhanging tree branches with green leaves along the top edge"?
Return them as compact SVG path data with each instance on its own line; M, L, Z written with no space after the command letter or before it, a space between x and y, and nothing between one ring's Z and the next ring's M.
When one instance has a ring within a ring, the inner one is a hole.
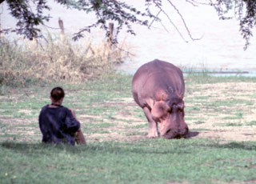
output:
M5 0L0 0L0 4ZM221 19L236 18L240 22L240 31L243 38L246 40L245 49L250 44L250 38L253 36L252 30L256 26L256 1L254 0L183 0L192 6L213 6L218 12ZM92 12L96 15L97 21L94 24L83 27L78 33L74 34L74 39L82 37L84 31L90 31L91 28L100 26L108 33L107 22L117 22L118 32L126 27L127 32L135 34L132 29L132 24L137 23L142 26L150 27L154 21L161 21L159 14L164 14L178 31L178 27L172 22L170 15L163 9L162 2L167 2L174 8L176 13L182 19L183 26L185 26L187 34L191 40L195 40L190 34L186 22L180 14L179 10L174 5L172 0L145 0L145 10L136 10L133 6L120 2L118 0L55 0L59 4L70 9L82 10L85 13ZM49 21L50 15L43 14L43 10L50 10L47 5L47 0L6 0L9 10L14 18L18 19L17 28L15 30L1 30L1 32L8 33L15 31L18 34L23 34L26 38L37 38L40 30L39 25L44 25ZM33 7L33 8L31 8ZM152 13L150 8L155 7L158 13ZM234 10L233 16L226 16ZM183 38L184 39L184 38ZM185 40L185 39L184 39Z

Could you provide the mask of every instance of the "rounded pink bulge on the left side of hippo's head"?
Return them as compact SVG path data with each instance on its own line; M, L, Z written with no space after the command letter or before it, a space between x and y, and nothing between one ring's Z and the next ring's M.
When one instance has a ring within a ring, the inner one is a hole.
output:
M151 115L155 119L162 118L167 114L169 110L170 110L170 106L168 106L166 102L163 102L163 101L155 102L151 110Z

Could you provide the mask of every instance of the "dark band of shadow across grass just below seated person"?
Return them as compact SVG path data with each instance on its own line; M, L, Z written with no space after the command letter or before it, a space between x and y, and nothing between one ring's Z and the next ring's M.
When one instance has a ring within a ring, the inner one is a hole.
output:
M192 136L197 132L192 132ZM141 140L140 142L92 142L88 146L55 145L46 143L2 142L0 150L12 150L22 154L191 154L190 146L194 150L202 147L216 149L256 150L256 142L228 142L219 143L217 140L182 139L182 140Z

